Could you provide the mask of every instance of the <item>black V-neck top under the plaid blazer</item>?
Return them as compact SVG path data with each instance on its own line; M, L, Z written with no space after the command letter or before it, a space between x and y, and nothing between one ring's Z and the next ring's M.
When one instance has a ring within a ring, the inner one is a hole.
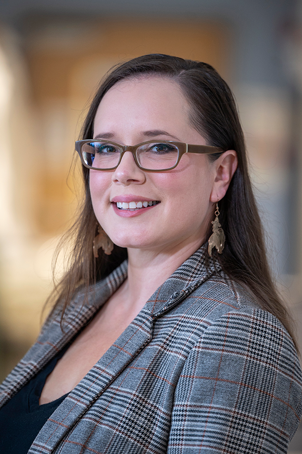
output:
M39 405L45 380L68 347L69 345L52 358L0 409L1 454L27 454L42 426L68 395Z

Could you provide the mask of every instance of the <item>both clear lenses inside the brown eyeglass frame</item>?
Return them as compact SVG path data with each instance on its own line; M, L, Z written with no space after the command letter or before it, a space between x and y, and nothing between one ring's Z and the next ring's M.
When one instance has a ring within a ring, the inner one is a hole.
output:
M120 149L110 142L89 142L82 146L84 162L97 169L115 167L119 161ZM163 170L173 167L178 158L176 145L165 142L145 143L136 150L139 164L149 170Z

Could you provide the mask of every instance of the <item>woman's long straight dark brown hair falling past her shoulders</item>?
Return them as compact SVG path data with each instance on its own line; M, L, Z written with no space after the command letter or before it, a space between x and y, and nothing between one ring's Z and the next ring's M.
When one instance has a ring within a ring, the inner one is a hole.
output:
M143 55L116 66L104 77L96 91L81 138L93 138L93 122L104 94L118 81L141 75L162 76L175 81L191 106L192 126L207 144L222 147L225 151L236 151L238 167L226 195L219 202L219 221L226 236L225 248L221 255L214 254L229 279L249 289L259 305L274 314L294 340L290 316L276 291L266 257L236 103L228 85L214 68L206 63L163 54ZM215 158L215 155L209 157ZM73 234L75 241L70 268L56 287L58 298L53 310L62 310L62 316L79 288L86 289L87 295L91 284L108 275L127 258L127 250L118 246L114 246L110 256L100 250L99 258L94 258L92 241L97 234L97 220L89 192L89 170L84 166L83 179L85 200L77 221L64 240L70 240Z

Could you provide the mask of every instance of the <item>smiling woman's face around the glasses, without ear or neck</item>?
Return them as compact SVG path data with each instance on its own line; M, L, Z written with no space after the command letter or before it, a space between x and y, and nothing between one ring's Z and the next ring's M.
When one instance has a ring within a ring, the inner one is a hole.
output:
M189 104L178 85L154 76L119 82L105 94L94 121L98 137L121 145L148 140L205 144L189 124ZM197 249L207 239L213 218L215 178L215 162L205 155L187 153L176 168L151 173L142 171L126 152L114 171L90 170L93 209L119 246L167 253L187 246ZM131 202L142 207L132 208ZM144 207L146 202L156 204ZM117 207L121 203L125 209Z

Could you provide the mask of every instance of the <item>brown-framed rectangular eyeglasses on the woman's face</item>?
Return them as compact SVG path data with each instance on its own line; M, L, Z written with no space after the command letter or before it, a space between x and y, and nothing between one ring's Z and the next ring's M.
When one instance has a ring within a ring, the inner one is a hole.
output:
M85 167L102 171L115 169L124 153L130 151L138 167L147 172L164 172L175 168L185 153L215 154L224 151L219 147L188 145L171 140L142 142L130 146L103 139L78 140L76 150Z

